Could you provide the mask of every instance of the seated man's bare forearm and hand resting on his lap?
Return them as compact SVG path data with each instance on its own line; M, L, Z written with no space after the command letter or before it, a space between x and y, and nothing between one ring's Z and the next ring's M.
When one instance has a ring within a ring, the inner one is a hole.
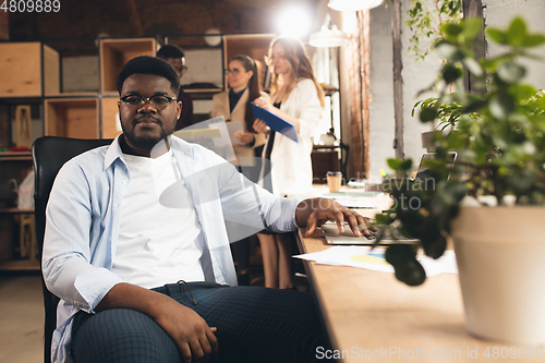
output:
M218 359L218 339L193 310L162 293L130 283L118 283L108 291L96 311L131 308L152 317L174 341L185 363Z

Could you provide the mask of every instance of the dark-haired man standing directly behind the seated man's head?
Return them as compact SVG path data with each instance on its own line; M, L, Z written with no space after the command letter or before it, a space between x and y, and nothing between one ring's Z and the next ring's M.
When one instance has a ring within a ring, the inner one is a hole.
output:
M183 73L187 71L187 66L185 65L185 55L183 50L174 45L165 45L157 51L157 58L162 59L174 68L178 73L180 80L183 76ZM174 131L185 129L193 124L193 100L191 96L183 92L182 87L178 92L178 101L182 102L182 113L175 123Z

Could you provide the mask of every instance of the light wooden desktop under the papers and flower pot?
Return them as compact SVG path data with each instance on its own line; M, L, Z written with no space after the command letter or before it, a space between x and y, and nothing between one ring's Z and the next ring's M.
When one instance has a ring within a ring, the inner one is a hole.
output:
M300 230L298 237L302 253L329 247L319 229L312 238L305 239L303 233ZM520 344L504 346L470 336L457 275L438 275L411 288L397 281L393 274L314 262L305 262L305 268L334 349L344 351L339 362L545 362L544 358L522 359L518 353L511 359L509 349Z

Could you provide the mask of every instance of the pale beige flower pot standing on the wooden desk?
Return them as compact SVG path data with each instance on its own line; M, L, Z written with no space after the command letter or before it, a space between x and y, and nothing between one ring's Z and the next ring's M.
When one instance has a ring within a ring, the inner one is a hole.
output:
M545 208L462 207L452 238L468 330L545 343Z

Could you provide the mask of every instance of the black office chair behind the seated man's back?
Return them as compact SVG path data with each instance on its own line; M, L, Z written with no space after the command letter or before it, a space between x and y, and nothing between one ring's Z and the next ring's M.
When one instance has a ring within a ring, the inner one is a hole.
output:
M44 232L46 229L46 205L49 193L60 168L84 152L98 146L109 145L112 140L78 140L56 136L37 138L33 144L34 160L34 201L36 220L36 241L38 243L39 258L44 246ZM41 265L41 263L40 263ZM57 304L59 298L47 290L41 277L44 290L45 325L44 325L44 362L51 362L51 339L57 327Z

